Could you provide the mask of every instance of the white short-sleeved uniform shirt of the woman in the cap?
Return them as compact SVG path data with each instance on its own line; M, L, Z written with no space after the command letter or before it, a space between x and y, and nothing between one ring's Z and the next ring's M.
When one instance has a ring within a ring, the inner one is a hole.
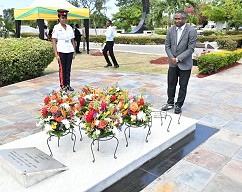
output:
M52 33L52 38L57 39L57 52L74 52L74 47L71 43L71 39L74 38L74 32L70 25L66 25L66 29L64 29L60 23L55 25Z

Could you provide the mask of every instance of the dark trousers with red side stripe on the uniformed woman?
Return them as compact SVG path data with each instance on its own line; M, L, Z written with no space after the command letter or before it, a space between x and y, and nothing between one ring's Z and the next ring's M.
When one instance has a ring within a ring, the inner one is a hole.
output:
M70 76L71 76L71 63L73 59L73 53L59 53L59 78L60 86L64 88L70 86Z

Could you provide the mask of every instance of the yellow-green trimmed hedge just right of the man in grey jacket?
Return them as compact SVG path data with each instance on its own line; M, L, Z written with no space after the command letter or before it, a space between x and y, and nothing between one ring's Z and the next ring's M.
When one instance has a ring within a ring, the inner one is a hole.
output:
M234 64L242 58L239 52L223 51L207 53L197 59L198 69L201 74L211 74L226 66Z

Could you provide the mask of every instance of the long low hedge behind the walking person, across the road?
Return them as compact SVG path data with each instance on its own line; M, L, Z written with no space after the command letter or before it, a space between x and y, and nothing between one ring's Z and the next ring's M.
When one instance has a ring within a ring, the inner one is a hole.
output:
M95 43L103 43L106 41L105 36L90 36L90 41ZM135 45L160 45L165 43L165 37L134 37L119 36L115 37L117 44L135 44Z

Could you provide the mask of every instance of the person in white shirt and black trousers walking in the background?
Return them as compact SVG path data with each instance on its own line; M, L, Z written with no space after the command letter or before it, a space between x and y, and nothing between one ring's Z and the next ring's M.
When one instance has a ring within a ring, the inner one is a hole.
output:
M106 31L106 44L104 46L104 49L103 49L103 55L104 55L104 58L107 62L107 65L104 66L104 67L111 67L112 64L108 58L108 54L107 52L109 52L109 55L113 61L113 64L114 64L114 68L119 68L119 65L117 63L117 60L114 56L114 53L113 53L113 45L114 45L114 29L112 27L112 21L111 20L107 20L107 23L106 23L106 26L107 26L107 31Z

